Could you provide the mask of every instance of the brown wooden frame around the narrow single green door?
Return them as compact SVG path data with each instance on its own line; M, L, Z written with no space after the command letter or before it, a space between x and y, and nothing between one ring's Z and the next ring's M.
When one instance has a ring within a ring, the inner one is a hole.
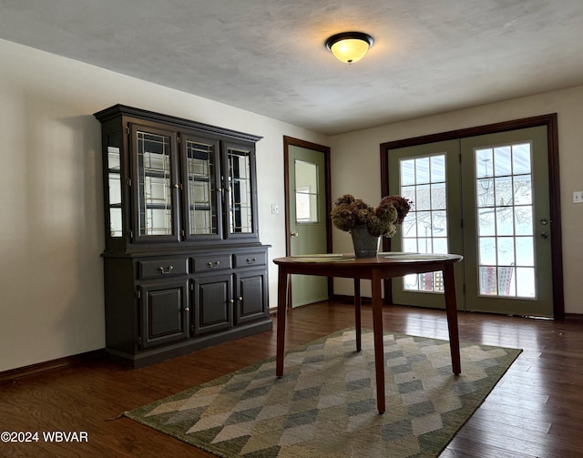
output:
M312 149L313 151L320 151L324 155L324 177L325 177L325 200L326 200L326 215L330 215L332 211L332 185L331 185L331 168L330 168L330 147L326 147L323 145L318 145L317 143L312 143L306 140L302 140L300 138L288 137L283 136L283 188L285 193L285 255L291 256L292 255L292 238L290 237L291 229L290 229L290 166L289 166L289 159L290 159L290 147L299 147L299 148L306 148ZM328 253L332 252L332 219L326 218L326 251ZM332 298L333 295L333 279L328 278L328 298ZM289 290L288 294L290 297L288 298L289 302L292 303L292 281L289 282Z

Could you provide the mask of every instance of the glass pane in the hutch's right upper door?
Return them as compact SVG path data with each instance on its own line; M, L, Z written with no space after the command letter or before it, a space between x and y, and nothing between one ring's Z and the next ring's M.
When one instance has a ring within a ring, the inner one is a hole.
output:
M227 158L229 161L230 232L251 234L253 213L250 152L230 148Z

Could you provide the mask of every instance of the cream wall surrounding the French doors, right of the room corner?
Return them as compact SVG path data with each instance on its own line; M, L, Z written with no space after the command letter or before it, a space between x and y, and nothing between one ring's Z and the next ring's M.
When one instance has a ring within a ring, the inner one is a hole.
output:
M557 113L565 311L583 313L583 204L574 204L573 191L583 190L583 87L473 107L432 117L413 119L331 138L332 197L351 193L372 205L381 196L381 143L435 134L465 127ZM352 249L350 236L333 232L334 251ZM561 279L556 279L560 281ZM368 285L363 295L370 295ZM335 280L335 292L352 294L352 281Z

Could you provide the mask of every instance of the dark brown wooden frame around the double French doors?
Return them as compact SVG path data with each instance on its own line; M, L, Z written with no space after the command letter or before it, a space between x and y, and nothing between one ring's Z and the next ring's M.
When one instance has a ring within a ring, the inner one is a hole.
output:
M381 148L381 190L383 196L389 193L388 155L391 149L414 147L425 143L435 143L455 138L477 137L485 134L495 134L508 130L517 130L527 127L547 127L547 149L548 149L548 192L550 203L550 219L553 225L551 230L551 256L552 256L552 276L553 276L553 310L555 320L565 319L565 296L563 290L563 251L562 251L562 231L561 231L561 202L560 186L558 174L558 124L557 113L540 115L537 117L524 117L512 119L485 126L467 127L463 129L450 130L438 134L429 134L421 137L404 138L394 140L380 145ZM383 249L391 249L391 239L383 240ZM391 298L393 292L390 281L384 282L384 297ZM386 299L385 299L386 300Z

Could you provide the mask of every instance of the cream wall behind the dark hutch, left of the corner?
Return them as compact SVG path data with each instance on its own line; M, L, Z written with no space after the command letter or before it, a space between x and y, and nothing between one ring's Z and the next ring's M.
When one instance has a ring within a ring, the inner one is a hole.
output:
M0 371L105 345L98 110L120 103L262 136L261 242L285 255L283 212L271 215L284 208L282 137L327 137L4 40L0 62ZM271 263L271 298L276 282Z

